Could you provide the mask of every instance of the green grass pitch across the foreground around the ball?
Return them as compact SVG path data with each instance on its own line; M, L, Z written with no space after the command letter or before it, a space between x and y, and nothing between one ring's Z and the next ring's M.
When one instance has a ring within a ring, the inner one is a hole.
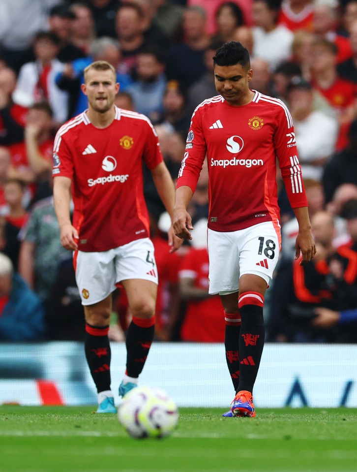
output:
M175 432L134 440L90 407L0 406L0 472L356 472L357 409L180 409Z

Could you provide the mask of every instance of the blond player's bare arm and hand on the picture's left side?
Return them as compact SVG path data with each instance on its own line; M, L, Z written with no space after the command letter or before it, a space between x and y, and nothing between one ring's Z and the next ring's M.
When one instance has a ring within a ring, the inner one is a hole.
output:
M57 176L54 179L53 196L55 211L59 222L60 239L64 249L77 251L78 246L75 239L78 238L77 230L72 226L69 203L70 203L71 179Z

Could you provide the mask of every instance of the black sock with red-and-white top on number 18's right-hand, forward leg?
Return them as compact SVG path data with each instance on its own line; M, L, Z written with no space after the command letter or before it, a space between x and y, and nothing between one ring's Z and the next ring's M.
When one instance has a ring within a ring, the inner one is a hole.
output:
M239 336L238 391L247 390L252 393L264 347L264 297L257 292L245 292L239 297L238 303L242 320Z

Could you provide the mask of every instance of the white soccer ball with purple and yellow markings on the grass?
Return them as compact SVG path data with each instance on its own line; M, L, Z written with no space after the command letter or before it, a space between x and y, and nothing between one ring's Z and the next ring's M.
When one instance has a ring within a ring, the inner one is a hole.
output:
M163 390L136 387L124 395L118 417L119 423L133 438L164 438L175 429L179 411Z

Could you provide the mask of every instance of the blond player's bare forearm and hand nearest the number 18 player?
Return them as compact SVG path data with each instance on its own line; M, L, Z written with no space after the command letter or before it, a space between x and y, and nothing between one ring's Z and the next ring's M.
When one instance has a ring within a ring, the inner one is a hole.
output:
M151 173L162 203L170 215L171 221L173 221L175 187L170 172L168 171L166 164L161 162L157 167L155 167L155 169L151 171ZM167 232L167 235L169 246L171 247L170 252L177 251L181 247L183 241L178 236L176 236L173 226L171 226Z

